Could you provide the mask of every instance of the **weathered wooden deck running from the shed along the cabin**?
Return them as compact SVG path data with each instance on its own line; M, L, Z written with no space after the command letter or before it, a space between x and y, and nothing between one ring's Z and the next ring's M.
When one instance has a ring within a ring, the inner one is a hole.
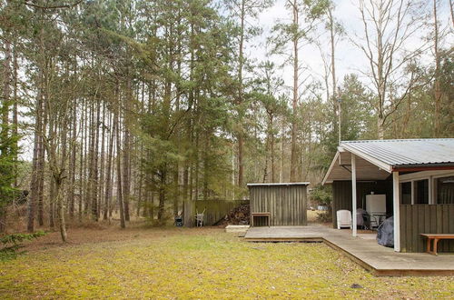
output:
M252 227L244 239L249 242L323 242L378 276L454 275L453 254L397 253L378 245L370 237L353 237L348 229L308 225Z

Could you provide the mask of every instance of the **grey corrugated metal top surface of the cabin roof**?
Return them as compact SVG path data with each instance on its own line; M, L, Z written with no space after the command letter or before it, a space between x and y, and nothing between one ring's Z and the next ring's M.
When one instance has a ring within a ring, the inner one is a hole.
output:
M454 138L345 141L341 146L390 166L454 163Z

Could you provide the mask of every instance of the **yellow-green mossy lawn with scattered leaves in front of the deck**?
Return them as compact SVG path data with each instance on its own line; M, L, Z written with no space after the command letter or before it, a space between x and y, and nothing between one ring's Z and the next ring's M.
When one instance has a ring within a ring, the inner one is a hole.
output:
M320 243L251 244L219 227L70 228L0 262L0 298L452 298L454 277L375 277Z

